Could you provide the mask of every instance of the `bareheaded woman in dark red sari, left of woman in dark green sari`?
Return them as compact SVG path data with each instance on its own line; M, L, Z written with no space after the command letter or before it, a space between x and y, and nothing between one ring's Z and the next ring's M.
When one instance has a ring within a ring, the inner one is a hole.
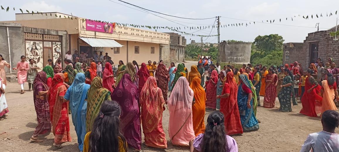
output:
M266 75L266 88L264 97L264 107L273 108L275 106L275 99L277 97L278 76L274 73L273 68L268 69Z

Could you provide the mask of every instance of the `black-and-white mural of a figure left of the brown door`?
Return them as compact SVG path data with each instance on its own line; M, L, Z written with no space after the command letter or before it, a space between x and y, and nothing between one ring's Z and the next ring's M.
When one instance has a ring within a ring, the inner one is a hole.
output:
M26 60L34 59L38 67L43 67L42 41L25 41Z

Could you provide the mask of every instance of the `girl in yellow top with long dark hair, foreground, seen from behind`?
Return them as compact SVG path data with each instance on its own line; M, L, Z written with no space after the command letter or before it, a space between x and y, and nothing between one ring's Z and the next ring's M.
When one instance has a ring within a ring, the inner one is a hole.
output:
M92 131L85 135L83 152L127 152L126 139L120 132L120 113L117 102L102 103Z

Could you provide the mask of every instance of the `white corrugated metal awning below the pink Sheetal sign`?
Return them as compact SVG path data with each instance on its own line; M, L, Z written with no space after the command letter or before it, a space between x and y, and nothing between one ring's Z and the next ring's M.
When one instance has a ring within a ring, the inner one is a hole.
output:
M118 42L112 39L99 39L92 37L79 37L79 38L92 47L108 47L108 48L123 47L123 45L119 44Z

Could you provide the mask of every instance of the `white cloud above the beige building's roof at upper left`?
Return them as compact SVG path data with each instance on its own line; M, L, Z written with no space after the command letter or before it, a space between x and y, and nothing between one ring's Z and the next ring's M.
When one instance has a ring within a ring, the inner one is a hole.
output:
M45 1L40 2L28 2L21 6L23 9L33 10L33 11L43 11L43 12L62 12L62 8L56 5L49 5Z

